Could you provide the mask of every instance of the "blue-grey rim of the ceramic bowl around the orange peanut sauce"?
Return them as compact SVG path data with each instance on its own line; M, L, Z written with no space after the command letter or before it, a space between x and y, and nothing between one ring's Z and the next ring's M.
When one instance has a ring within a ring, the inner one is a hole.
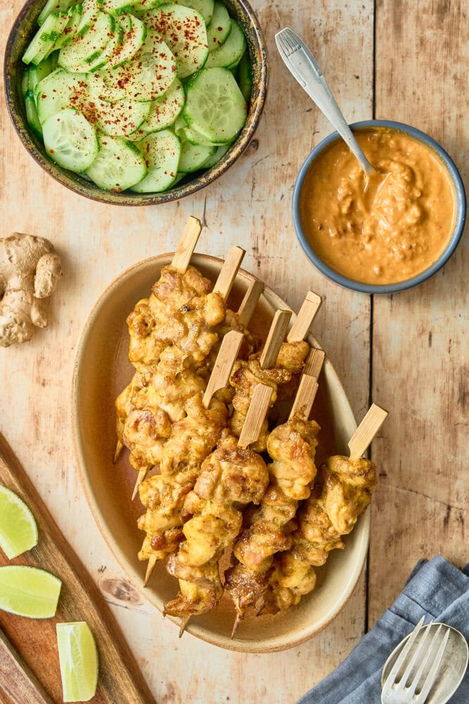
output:
M304 234L300 218L300 196L304 179L307 175L307 172L309 171L311 164L315 161L316 158L318 158L319 154L324 149L328 148L331 142L334 142L335 139L340 139L338 132L333 132L332 134L329 134L326 139L323 139L323 141L320 142L313 149L313 151L311 151L306 161L304 161L302 168L300 168L300 172L297 175L295 187L293 189L292 201L293 224L295 225L297 238L300 241L300 245L302 246L304 253L306 254L307 258L311 261L311 263L313 263L314 266L316 266L316 268L319 269L319 271L323 275L328 277L328 279L331 279L336 284L340 284L340 286L346 287L348 289L353 289L354 291L363 291L366 294L393 294L397 291L404 291L404 289L411 289L413 286L418 286L418 284L422 284L424 281L436 274L436 272L439 271L439 269L441 269L442 266L449 260L451 254L456 249L456 246L458 246L458 242L461 239L461 235L463 234L466 210L465 191L461 175L459 174L451 157L449 156L449 154L446 153L446 151L444 151L442 146L439 146L439 144L435 142L435 139L429 137L428 134L425 134L425 132L420 132L420 130L416 130L415 127L411 127L410 125L404 125L404 123L402 122L392 122L392 120L364 120L363 122L354 122L354 124L350 125L350 127L352 127L352 130L359 130L360 128L363 129L365 127L391 127L394 130L399 130L401 132L409 134L409 137L413 137L413 139L417 139L419 142L423 142L423 144L430 146L431 149L437 152L437 155L443 161L444 165L446 166L446 169L449 172L449 177L451 178L451 181L453 183L454 196L456 199L456 219L454 223L454 230L451 234L448 244L446 245L446 248L439 256L437 261L435 261L435 263L433 263L428 269L421 272L417 276L412 277L411 279L406 279L406 281L401 281L395 284L384 284L380 286L375 284L363 284L361 282L354 281L353 279L348 279L347 277L340 275L338 272L334 271L326 263L323 262L323 260L316 254L314 249L311 247L306 235Z

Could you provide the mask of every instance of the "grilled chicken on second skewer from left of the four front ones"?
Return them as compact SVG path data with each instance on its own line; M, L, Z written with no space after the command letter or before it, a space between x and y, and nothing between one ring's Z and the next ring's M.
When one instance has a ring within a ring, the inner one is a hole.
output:
M223 593L218 562L240 530L240 509L258 504L269 482L262 457L238 448L237 442L223 432L184 502L184 514L191 516L183 527L186 540L167 563L169 574L179 579L180 591L165 604L167 614L201 614L218 603Z

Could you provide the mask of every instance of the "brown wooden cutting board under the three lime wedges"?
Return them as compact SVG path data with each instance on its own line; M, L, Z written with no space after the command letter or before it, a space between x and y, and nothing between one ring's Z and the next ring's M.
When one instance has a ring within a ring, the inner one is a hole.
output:
M0 610L0 629L16 651L8 655L0 637L0 702L60 704L62 686L58 665L56 623L86 621L93 631L99 652L99 681L94 704L146 704L155 700L144 681L134 656L117 627L93 579L60 533L25 470L0 433L0 483L8 486L29 505L37 521L39 543L18 558L8 560L0 551L0 565L32 565L48 570L62 580L56 616L28 619ZM1 634L0 634L1 635ZM32 698L21 689L19 655L32 678L43 688L42 698ZM2 691L2 688L4 691ZM8 693L9 692L9 693Z

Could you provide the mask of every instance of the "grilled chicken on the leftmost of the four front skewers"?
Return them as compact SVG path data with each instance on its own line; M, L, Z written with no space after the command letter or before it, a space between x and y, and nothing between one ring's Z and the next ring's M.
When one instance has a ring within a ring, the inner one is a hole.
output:
M160 472L148 477L139 486L141 503L146 513L138 526L147 534L139 560L153 555L162 560L176 551L184 536L181 532L181 510L184 499L193 488L200 465L217 444L226 427L228 411L224 403L213 398L210 408L197 394L186 403L186 417L172 426L171 436L162 448Z

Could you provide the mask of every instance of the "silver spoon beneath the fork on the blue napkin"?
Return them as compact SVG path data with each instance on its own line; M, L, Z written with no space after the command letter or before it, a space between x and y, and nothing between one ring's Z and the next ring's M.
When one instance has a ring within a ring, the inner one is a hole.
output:
M418 641L423 637L427 629L430 629L430 634L428 635L431 637L435 631L437 631L438 627L439 623L430 623L423 626L416 636L416 643L418 644ZM460 631L452 626L447 627L450 629L449 640L448 643L446 643L442 662L439 665L437 679L428 694L428 698L425 700L425 704L445 704L449 701L461 684L468 667L468 643ZM402 648L404 648L411 635L412 634L409 633L409 635L394 648L389 658L387 658L385 666L383 667L383 674L381 675L382 689L392 670L394 662L396 662L399 653Z

